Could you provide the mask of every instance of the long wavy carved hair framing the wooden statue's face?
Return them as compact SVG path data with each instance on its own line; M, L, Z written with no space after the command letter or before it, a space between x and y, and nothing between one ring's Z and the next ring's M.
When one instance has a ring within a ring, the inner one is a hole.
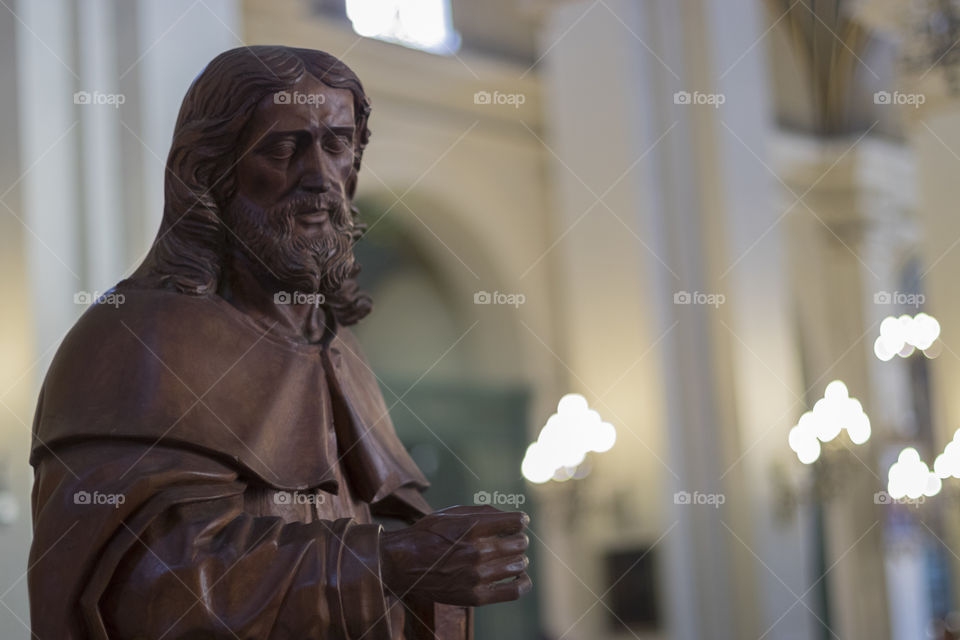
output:
M169 288L189 295L217 292L227 235L220 204L237 184L238 141L257 104L292 88L305 74L353 94L356 139L353 170L344 194L354 217L354 240L366 226L353 206L357 172L370 139L370 101L359 78L328 53L280 46L239 47L221 53L187 90L177 117L164 179L163 219L147 257L123 286ZM328 302L343 324L370 312L369 296L357 289L359 265Z

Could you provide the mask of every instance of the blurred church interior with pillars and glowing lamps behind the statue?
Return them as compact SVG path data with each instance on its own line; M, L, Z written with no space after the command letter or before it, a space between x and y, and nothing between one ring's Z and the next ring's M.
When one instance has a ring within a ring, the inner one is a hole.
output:
M479 639L960 637L955 0L0 0L0 636L39 384L244 44L372 99L357 333L431 503L533 518Z

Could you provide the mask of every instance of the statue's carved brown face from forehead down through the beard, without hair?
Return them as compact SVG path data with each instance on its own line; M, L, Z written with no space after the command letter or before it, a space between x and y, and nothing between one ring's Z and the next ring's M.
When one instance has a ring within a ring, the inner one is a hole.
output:
M350 91L312 75L264 97L245 128L224 221L278 289L333 294L349 275L355 135Z

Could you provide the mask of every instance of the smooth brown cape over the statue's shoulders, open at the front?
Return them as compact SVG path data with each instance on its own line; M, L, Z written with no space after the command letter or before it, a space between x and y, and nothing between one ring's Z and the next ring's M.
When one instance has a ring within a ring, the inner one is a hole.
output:
M97 438L181 446L283 490L337 493L339 463L381 512L429 511L349 330L296 345L215 295L119 289L77 321L40 392L31 464Z

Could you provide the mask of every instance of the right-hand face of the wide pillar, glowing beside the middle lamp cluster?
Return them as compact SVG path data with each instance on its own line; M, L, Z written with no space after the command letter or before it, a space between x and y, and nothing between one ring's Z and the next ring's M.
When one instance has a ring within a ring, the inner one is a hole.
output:
M809 514L785 509L774 480L798 464L786 439L805 410L805 385L785 255L789 232L785 210L776 206L779 183L767 151L775 129L769 22L761 3L745 1L696 3L684 18L690 27L680 86L723 97L716 109L691 105L699 135L686 150L702 185L702 219L693 226L706 254L704 275L727 296L709 329L716 341L712 384L723 451L716 482L742 492L728 501L731 513L711 535L723 536L735 576L750 568L739 587L741 632L734 637L748 637L748 630L749 637L817 637L825 632L815 617L821 615L816 592L807 593Z

